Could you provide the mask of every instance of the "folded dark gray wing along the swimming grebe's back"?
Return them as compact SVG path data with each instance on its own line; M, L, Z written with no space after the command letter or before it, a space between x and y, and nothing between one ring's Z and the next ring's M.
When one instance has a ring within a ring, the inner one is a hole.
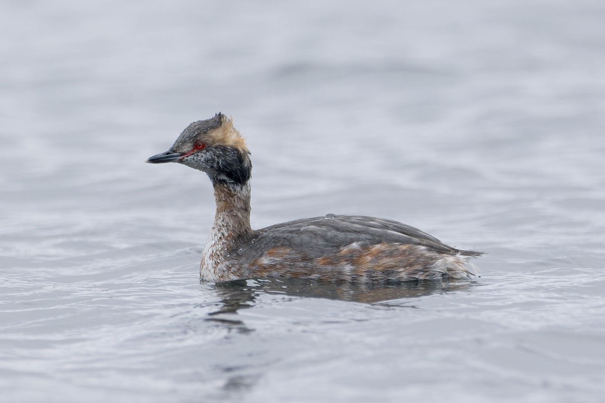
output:
M361 242L401 243L422 245L439 253L479 256L480 252L460 251L441 242L424 231L401 222L366 216L314 217L284 222L263 228L255 233L257 247L270 250L273 247L315 249L318 253L333 253L338 248Z

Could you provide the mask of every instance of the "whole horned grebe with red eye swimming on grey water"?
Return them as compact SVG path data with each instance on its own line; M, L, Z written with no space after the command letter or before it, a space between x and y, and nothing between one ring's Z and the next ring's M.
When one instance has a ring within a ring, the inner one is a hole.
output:
M384 218L327 214L252 230L250 152L232 120L221 113L189 124L167 152L146 162L185 164L212 181L217 211L201 256L202 280L397 282L476 274L468 258L481 252L457 250Z

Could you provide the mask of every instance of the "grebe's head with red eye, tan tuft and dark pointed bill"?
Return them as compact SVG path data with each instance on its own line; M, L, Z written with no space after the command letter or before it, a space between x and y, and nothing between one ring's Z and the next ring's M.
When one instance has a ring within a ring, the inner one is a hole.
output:
M252 171L249 154L233 121L219 112L189 124L168 151L146 162L181 163L208 173L215 185L243 185Z

